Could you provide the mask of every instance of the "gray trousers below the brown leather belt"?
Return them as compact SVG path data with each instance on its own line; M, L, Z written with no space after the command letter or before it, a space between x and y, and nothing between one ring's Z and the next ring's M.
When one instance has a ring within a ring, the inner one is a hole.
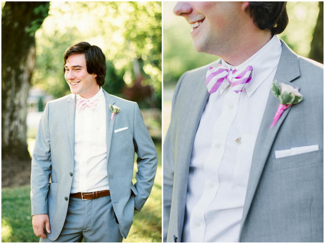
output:
M122 242L110 195L93 200L70 197L58 238L40 238L39 242L81 242L82 238L85 242Z

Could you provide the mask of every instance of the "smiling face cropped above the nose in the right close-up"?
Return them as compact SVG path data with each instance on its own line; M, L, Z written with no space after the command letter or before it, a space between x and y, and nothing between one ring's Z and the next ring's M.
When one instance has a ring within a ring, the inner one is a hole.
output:
M236 40L241 25L240 2L178 2L174 14L183 16L191 24L194 49L220 55Z

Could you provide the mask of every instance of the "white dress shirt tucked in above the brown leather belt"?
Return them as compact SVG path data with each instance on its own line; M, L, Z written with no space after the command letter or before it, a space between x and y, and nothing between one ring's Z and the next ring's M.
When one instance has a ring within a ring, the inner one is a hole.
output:
M80 97L76 95L77 98ZM75 108L74 170L71 193L107 190L106 105L102 88L91 97L95 110Z

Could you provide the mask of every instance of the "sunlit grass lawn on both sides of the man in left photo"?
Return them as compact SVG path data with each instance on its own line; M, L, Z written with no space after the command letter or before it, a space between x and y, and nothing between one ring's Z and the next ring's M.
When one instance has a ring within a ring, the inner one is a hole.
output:
M135 211L123 242L161 242L161 143L155 144L158 168L154 185L141 211ZM29 193L29 185L2 188L1 242L38 242L31 226Z

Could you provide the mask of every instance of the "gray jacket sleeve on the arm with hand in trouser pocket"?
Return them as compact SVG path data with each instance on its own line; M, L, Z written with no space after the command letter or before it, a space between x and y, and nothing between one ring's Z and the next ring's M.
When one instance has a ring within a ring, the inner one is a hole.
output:
M133 144L137 154L135 174L137 194L134 197L134 207L139 211L151 192L157 169L157 152L137 103L134 103Z

